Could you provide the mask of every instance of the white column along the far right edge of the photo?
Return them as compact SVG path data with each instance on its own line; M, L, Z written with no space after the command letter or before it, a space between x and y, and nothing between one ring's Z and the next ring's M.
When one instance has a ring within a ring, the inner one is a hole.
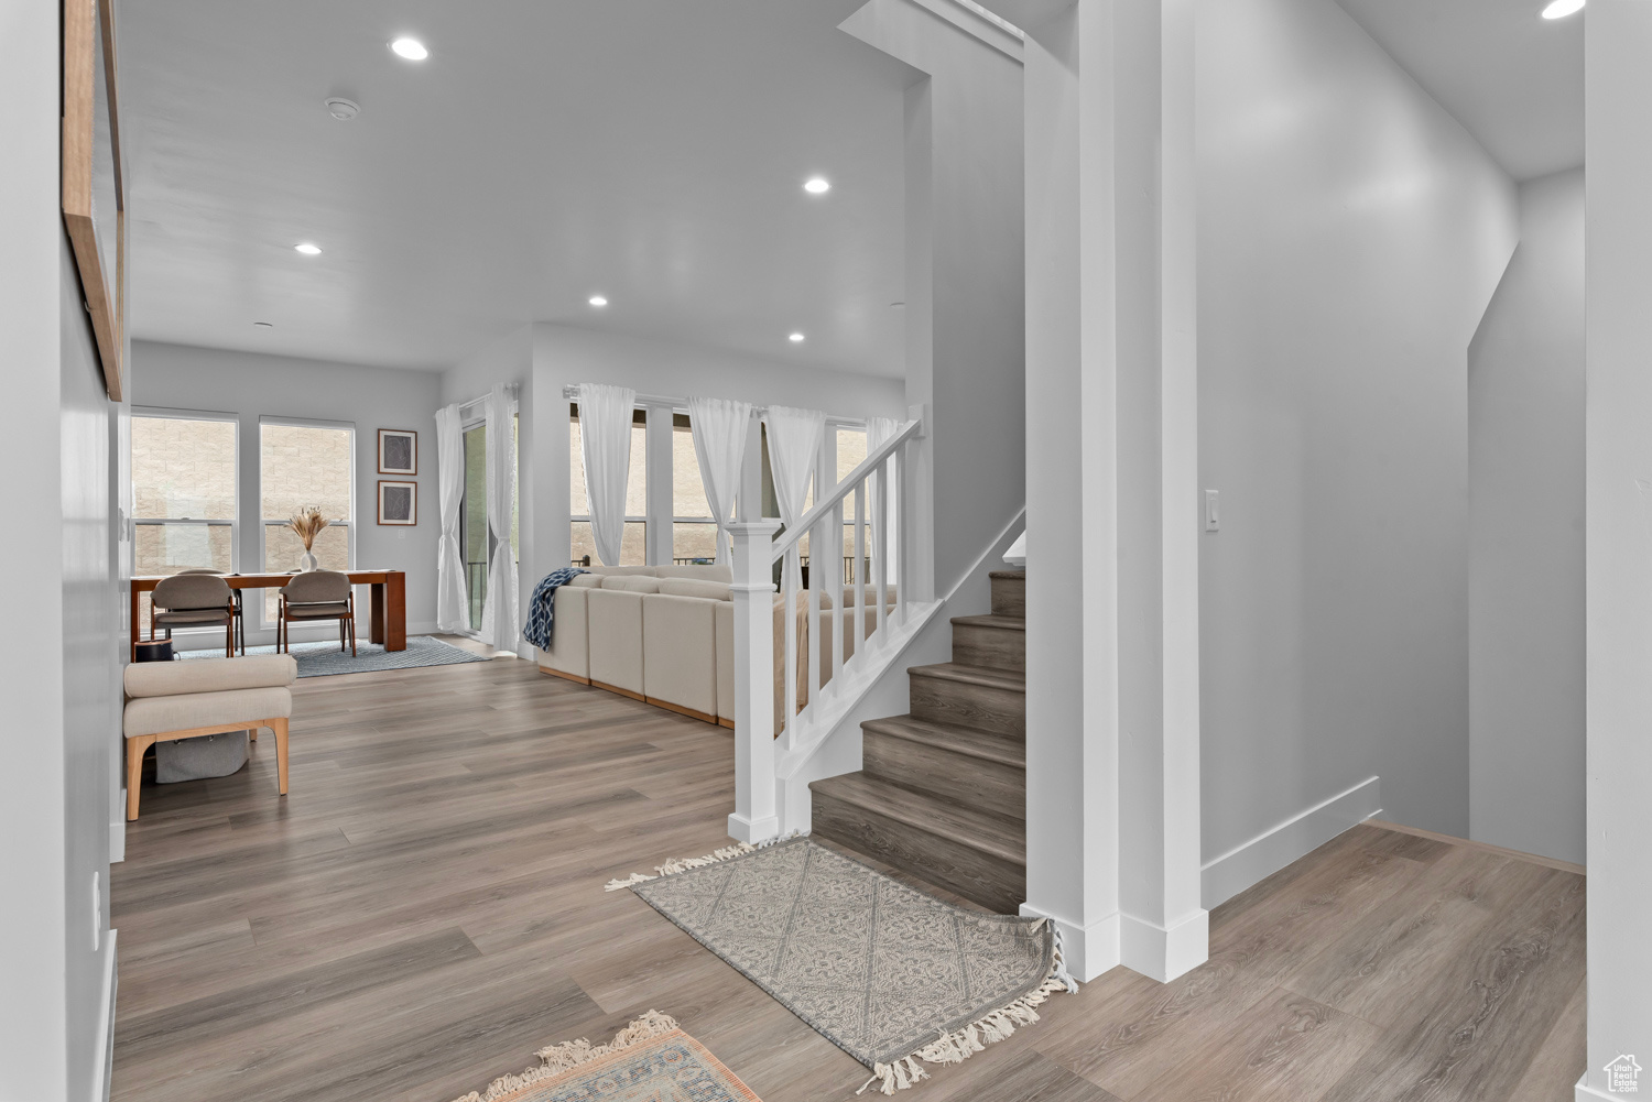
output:
M1594 0L1584 26L1584 666L1589 1062L1578 1100L1652 1066L1652 3ZM1642 1072L1642 1087L1652 1072Z

